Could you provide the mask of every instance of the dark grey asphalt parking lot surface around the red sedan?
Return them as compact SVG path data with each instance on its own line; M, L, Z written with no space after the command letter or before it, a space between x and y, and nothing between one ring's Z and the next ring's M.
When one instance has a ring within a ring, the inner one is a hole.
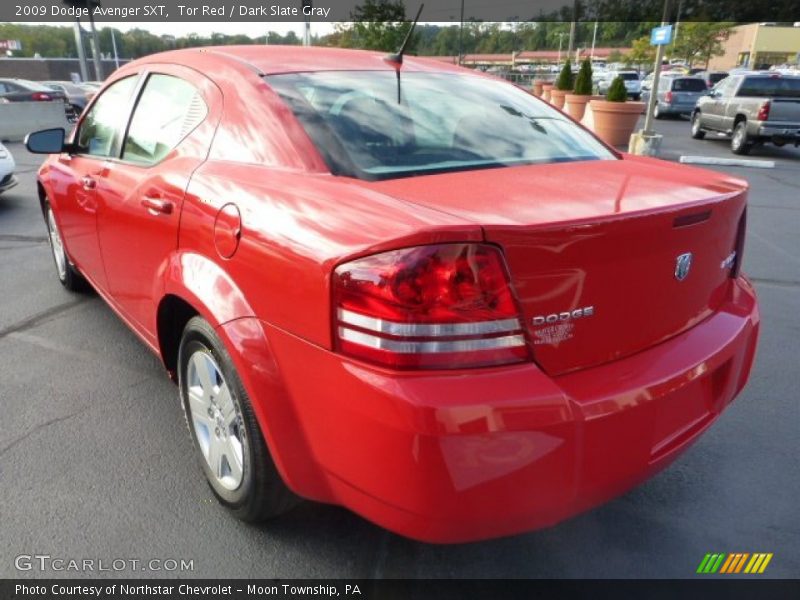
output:
M733 157L658 122L664 156ZM692 577L707 552L772 552L800 576L800 150L756 149L745 269L762 337L748 387L669 469L554 528L457 546L416 543L337 507L303 503L253 527L204 483L160 363L93 294L58 284L19 144L0 196L0 577L20 554L192 560L193 577ZM717 167L719 168L719 167ZM491 176L491 172L487 174ZM91 574L89 574L91 575Z

